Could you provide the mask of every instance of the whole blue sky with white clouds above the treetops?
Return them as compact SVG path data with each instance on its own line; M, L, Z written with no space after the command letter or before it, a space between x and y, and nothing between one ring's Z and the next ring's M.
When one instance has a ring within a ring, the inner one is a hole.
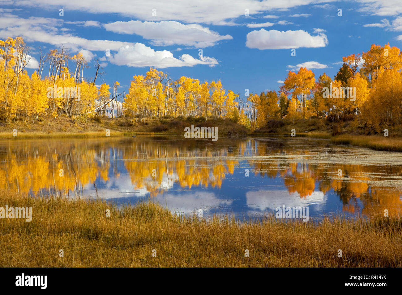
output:
M400 0L2 0L0 39L24 38L29 74L39 46L47 52L63 44L89 60L87 78L100 59L105 75L96 84L119 81L119 92L153 66L173 80L220 79L244 97L245 89L278 90L278 81L300 65L316 79L323 72L333 78L343 56L373 43L401 48L401 14Z

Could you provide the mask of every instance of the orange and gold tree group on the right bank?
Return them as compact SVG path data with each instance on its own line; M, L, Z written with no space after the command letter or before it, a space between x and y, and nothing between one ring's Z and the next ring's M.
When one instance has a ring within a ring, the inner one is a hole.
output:
M373 44L362 57L352 54L343 57L343 62L334 80L323 73L316 82L306 68L289 71L280 87L291 95L287 118L356 119L377 130L384 128L381 125L401 124L400 49Z

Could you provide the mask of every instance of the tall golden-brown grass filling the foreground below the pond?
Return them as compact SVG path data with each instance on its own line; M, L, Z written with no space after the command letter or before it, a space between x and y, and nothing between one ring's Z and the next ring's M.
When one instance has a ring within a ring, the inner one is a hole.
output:
M154 203L119 211L99 200L7 191L0 191L0 200L0 207L33 208L31 222L0 219L0 267L402 266L398 217L283 223L268 216L260 223L240 223L180 218ZM111 217L105 216L107 209Z

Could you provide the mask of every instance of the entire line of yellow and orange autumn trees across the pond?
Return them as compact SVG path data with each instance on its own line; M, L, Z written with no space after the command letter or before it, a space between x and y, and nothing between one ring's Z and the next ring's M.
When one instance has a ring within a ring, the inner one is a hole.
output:
M21 37L0 40L0 119L8 124L19 118L35 123L39 116L56 119L61 115L77 120L123 115L137 122L188 116L222 118L252 130L284 118L355 120L378 130L402 123L402 55L389 44L373 44L367 52L343 57L334 79L323 73L316 80L313 71L301 67L288 72L278 91L253 94L245 90L243 97L226 91L220 80L201 82L185 76L173 80L152 67L145 75L134 75L128 94L120 94L118 82L112 87L95 85L103 73L98 60L94 77L86 78L88 61L82 53L70 56L64 47L47 54L40 50L38 69L29 76L28 52ZM58 93L49 97L49 87L80 87L80 99ZM351 87L355 99L325 95L328 87Z

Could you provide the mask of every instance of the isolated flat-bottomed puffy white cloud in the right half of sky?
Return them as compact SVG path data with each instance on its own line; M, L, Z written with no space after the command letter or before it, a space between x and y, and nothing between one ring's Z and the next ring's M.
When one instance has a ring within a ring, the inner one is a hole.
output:
M328 45L326 35L312 36L306 31L276 31L260 29L247 34L246 46L256 49L293 49L300 47L325 47Z

